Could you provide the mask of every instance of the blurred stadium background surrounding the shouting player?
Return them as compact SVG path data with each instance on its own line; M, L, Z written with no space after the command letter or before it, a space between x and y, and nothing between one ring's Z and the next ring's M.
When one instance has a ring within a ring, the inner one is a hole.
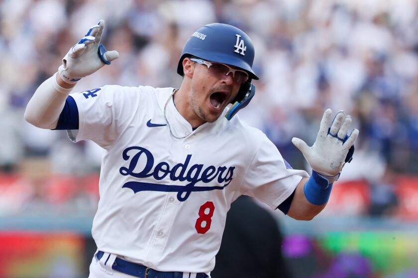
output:
M0 277L87 277L102 150L24 122L68 49L104 19L120 58L75 88L179 86L188 36L206 23L252 38L257 93L238 114L294 168L325 108L360 130L327 208L299 222L274 211L295 277L418 277L417 0L0 1Z

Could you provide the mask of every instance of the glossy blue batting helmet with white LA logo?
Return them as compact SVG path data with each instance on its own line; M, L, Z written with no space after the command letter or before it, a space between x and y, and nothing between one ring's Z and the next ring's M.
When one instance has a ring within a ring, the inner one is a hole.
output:
M177 73L182 76L183 60L190 56L235 66L247 71L251 79L259 79L252 70L253 43L247 34L234 26L211 23L193 33L183 48L177 67Z

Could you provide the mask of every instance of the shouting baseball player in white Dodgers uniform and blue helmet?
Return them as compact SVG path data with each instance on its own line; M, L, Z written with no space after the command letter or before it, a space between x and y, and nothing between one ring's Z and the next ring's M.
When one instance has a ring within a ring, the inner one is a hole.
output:
M243 31L219 23L186 42L180 88L106 85L69 95L118 57L100 44L103 30L101 20L70 49L25 111L39 128L105 149L91 278L210 277L226 213L240 195L301 220L325 207L358 135L347 136L350 116L327 109L313 146L292 139L314 170L292 169L235 116L255 93L254 47Z

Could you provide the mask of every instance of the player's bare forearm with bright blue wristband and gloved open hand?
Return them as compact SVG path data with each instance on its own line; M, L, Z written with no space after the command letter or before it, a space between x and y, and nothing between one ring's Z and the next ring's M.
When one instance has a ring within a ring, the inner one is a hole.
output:
M299 183L289 216L310 220L325 207L333 182L338 180L344 164L352 159L359 131L354 129L347 135L351 121L351 116L345 116L344 111L339 111L332 120L332 111L327 109L312 146L302 139L292 139L313 170L309 179L302 179Z

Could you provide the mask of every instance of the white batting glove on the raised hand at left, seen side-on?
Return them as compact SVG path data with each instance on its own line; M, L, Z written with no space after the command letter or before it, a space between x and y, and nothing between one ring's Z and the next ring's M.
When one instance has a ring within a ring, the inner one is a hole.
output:
M58 74L65 82L74 84L119 57L117 51L106 51L100 43L103 29L104 20L100 20L62 59Z

